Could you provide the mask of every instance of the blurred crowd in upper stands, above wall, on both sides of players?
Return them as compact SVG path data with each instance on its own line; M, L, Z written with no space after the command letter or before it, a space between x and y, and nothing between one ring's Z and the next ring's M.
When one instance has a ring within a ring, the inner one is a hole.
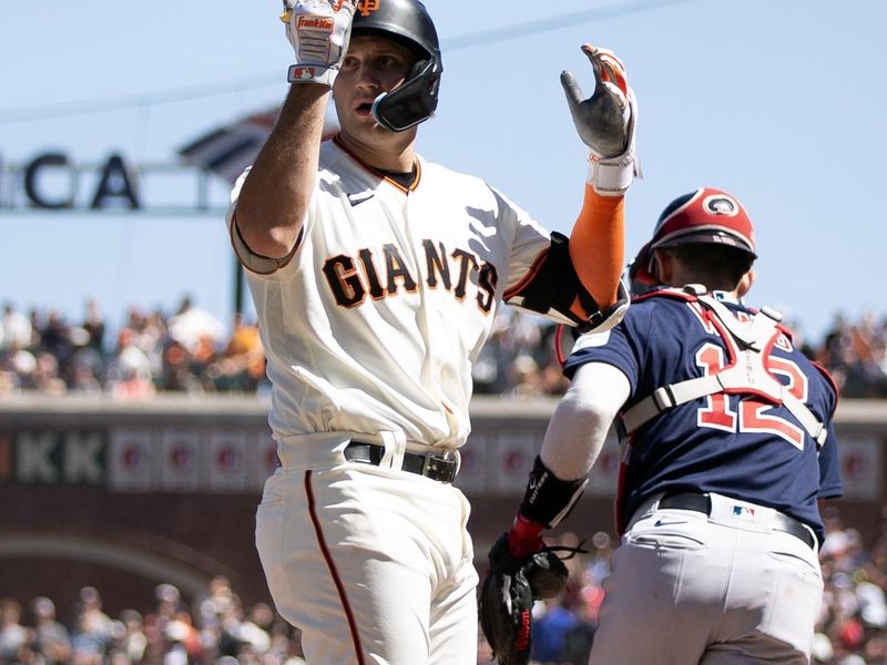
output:
M0 396L105 393L139 399L159 391L264 395L268 389L258 329L235 315L224 324L184 297L171 313L131 308L111 332L95 300L79 320L28 313L6 303L0 313ZM567 387L555 350L557 327L503 307L475 369L477 393L531 398ZM563 336L564 350L571 338ZM820 346L799 340L828 368L845 398L887 398L887 316L839 316Z

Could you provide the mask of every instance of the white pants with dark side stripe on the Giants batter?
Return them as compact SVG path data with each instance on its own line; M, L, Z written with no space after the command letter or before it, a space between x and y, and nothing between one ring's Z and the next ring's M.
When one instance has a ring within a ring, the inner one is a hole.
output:
M358 462L278 469L256 546L308 665L475 663L469 504L451 484Z

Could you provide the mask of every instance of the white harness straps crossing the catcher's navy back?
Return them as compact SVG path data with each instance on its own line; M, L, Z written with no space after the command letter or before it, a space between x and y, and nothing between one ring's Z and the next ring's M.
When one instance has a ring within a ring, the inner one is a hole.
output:
M667 290L661 291L667 295ZM703 305L713 315L712 323L727 347L733 364L717 374L679 381L653 391L622 416L626 432L652 420L660 413L701 397L718 392L753 393L775 405L782 405L797 418L817 448L825 443L827 430L813 411L792 395L764 366L765 351L782 335L778 323L782 316L763 307L750 320L740 320L722 303L705 294L699 285L689 285L673 294L690 294L692 300ZM720 325L718 325L720 324Z

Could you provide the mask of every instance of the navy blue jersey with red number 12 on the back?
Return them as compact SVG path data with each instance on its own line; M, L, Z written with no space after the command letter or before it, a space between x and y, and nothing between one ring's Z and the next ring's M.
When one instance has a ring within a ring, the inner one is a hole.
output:
M733 311L754 310L715 294ZM743 315L740 314L742 317ZM605 362L629 379L623 412L655 389L716 374L728 361L727 345L700 304L653 294L632 304L609 332L580 340L564 371L585 362ZM782 334L765 367L826 423L817 444L783 406L754 395L717 393L680 405L620 439L629 447L620 479L618 524L624 529L645 498L657 492L717 492L774 508L813 526L822 541L817 498L842 494L832 416L837 392L828 375Z

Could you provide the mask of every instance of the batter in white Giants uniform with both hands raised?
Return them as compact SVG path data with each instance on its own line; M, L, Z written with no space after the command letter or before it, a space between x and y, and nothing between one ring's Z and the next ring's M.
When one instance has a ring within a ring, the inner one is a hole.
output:
M623 315L635 102L609 52L584 48L589 99L562 74L590 151L568 242L417 154L442 73L420 2L288 1L282 18L292 86L228 214L281 460L257 511L263 567L312 665L473 662L469 505L450 484L471 364L502 300L597 329ZM330 91L340 130L324 142Z

